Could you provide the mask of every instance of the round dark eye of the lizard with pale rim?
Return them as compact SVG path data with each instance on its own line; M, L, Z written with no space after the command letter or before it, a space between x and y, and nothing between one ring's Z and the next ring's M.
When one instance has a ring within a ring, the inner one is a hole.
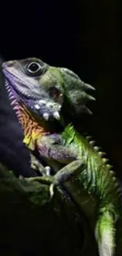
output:
M40 76L42 73L42 68L43 67L35 61L32 61L26 66L26 70L31 76Z

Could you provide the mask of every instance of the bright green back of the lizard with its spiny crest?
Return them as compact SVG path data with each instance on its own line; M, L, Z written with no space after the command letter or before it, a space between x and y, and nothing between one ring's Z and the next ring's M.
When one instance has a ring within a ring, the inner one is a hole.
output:
M120 187L116 173L113 171L113 165L109 165L109 159L105 158L105 152L102 152L100 147L94 146L95 141L87 133L79 135L72 124L68 124L62 137L68 145L77 139L76 143L79 144L80 155L82 155L83 160L87 161L87 171L81 175L85 184L84 187L90 193L97 190L96 192L102 198L102 202L107 200L107 203L109 200L116 205L118 196L120 198ZM72 149L76 150L74 144Z

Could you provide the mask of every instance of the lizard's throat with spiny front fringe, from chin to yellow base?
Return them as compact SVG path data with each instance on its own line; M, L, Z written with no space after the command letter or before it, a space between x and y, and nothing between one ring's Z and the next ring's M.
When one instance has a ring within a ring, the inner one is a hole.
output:
M28 111L26 106L24 106L24 104L17 99L7 81L5 85L6 90L9 93L11 106L17 114L17 118L24 132L23 142L30 150L35 150L36 140L43 135L50 134L50 130L45 121L43 121L41 118L36 120L35 116Z

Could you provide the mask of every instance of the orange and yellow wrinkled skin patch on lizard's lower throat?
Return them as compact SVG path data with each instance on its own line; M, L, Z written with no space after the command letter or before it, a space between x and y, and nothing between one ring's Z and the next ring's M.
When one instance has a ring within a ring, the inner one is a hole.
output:
M20 103L17 111L17 117L24 131L24 144L30 150L35 150L36 140L43 135L50 134L46 122L41 119L36 121L35 117L32 117L31 113L24 106L24 104Z

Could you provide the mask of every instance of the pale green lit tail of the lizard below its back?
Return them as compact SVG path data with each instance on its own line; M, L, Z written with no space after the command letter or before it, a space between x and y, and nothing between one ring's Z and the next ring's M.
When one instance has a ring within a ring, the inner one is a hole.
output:
M100 256L113 256L115 250L115 220L113 213L105 210L98 218L95 237Z

